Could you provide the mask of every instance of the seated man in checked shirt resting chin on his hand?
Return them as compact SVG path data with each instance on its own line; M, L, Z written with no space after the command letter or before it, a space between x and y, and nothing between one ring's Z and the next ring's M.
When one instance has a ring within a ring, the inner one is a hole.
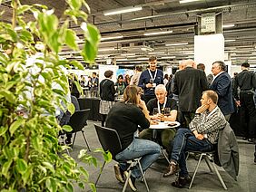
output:
M195 117L189 124L189 129L177 130L173 141L172 158L168 172L163 177L169 177L181 168L179 178L172 183L174 187L184 187L190 182L186 168L185 152L188 150L209 151L218 141L219 131L226 125L222 111L217 106L218 95L215 91L202 93L202 106L196 110Z

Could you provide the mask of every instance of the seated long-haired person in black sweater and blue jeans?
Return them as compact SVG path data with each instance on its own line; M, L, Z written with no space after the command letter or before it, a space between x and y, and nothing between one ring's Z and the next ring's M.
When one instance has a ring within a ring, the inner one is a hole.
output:
M142 157L140 162L145 171L160 156L161 149L151 140L134 138L134 132L137 131L138 126L142 129L149 128L150 116L145 102L141 100L139 87L130 85L124 90L123 101L115 103L109 111L106 127L117 130L122 143L122 149L115 158L122 161ZM128 176L127 168L126 163L114 166L115 177L122 183L123 175ZM133 191L136 191L135 179L141 177L141 171L137 166L132 170L129 180Z

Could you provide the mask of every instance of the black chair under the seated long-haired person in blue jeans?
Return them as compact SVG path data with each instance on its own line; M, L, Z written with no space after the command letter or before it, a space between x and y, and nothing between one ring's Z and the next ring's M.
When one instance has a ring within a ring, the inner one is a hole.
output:
M121 141L120 141L120 138L119 138L119 135L118 135L117 131L113 130L113 129L105 128L105 127L102 127L102 126L98 126L96 124L94 124L94 127L95 127L95 130L97 132L98 139L99 139L99 141L100 141L100 143L103 147L103 150L104 151L110 151L112 153L113 160L115 160L117 162L120 162L120 161L115 159L115 155L118 154L120 152L120 150L122 149L122 144L121 144ZM133 158L133 159L127 159L125 161L126 163L130 164L130 166L127 169L128 177L125 180L125 184L123 186L123 192L125 191L125 189L128 185L128 180L131 177L132 169L136 165L139 165L139 168L141 169L141 173L143 175L143 182L144 182L144 184L147 188L147 191L149 191L149 187L148 187L146 179L144 177L143 168L141 166L140 159L141 158ZM103 168L105 166L105 163L106 162L104 161ZM103 171L103 168L102 168L102 171ZM99 173L99 176L98 176L98 178L95 182L95 186L97 186L97 183L98 183L98 181L101 177L102 171Z

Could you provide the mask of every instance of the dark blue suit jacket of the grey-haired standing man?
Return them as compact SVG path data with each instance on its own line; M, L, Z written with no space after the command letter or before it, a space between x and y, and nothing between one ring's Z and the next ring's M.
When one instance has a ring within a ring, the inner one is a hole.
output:
M222 72L213 80L210 90L217 92L219 96L218 106L223 115L229 115L234 112L231 77L227 72Z

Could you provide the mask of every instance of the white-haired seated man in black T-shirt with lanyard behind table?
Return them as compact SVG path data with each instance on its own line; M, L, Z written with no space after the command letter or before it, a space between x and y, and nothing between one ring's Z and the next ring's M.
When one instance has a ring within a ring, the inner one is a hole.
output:
M163 84L159 84L155 88L156 98L148 101L147 109L150 112L150 117L152 120L168 120L175 121L177 117L177 104L176 101L167 97L167 91ZM163 116L161 111L164 111L164 108L170 108L170 116ZM158 109L157 115L153 114L153 109ZM171 142L175 136L176 130L174 129L163 129L163 130L154 130L157 131L156 140L162 144L164 149L167 150L168 154L171 152ZM153 130L147 129L143 130L140 133L140 138L142 139L153 139Z

